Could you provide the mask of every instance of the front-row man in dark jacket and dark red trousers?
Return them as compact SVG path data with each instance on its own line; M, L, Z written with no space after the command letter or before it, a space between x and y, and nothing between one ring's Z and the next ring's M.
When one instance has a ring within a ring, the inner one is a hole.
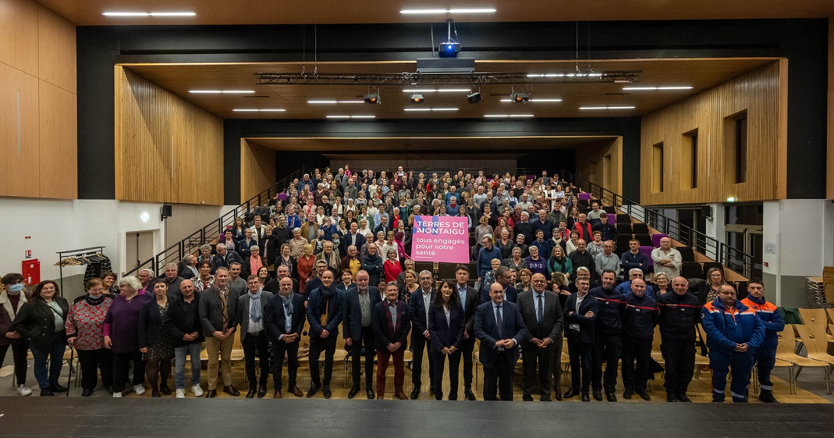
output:
M408 400L403 392L405 380L404 355L408 342L411 321L409 308L403 301L399 301L399 287L396 281L389 281L385 285L385 301L374 306L374 343L376 346L376 399L385 396L385 372L388 371L388 361L394 358L394 396L399 400Z

